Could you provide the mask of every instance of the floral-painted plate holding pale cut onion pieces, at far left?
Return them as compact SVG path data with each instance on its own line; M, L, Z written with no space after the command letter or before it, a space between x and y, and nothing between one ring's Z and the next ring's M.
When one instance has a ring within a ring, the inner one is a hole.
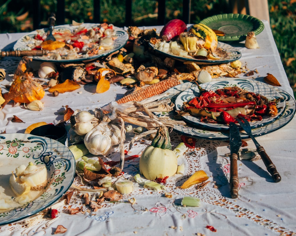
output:
M1 210L0 225L9 224L44 210L60 199L71 186L75 176L75 160L62 143L29 134L0 135L0 201L13 200L9 186L11 172L29 162L46 166L48 182L35 200L8 211Z

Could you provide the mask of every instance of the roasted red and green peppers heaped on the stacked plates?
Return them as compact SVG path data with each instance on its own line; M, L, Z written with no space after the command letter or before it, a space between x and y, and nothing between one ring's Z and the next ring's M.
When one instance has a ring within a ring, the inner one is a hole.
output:
M277 100L243 90L237 86L217 89L216 92L200 89L200 96L184 102L182 109L191 115L200 117L205 123L237 123L244 117L248 121L262 120L263 116L275 116L278 113Z

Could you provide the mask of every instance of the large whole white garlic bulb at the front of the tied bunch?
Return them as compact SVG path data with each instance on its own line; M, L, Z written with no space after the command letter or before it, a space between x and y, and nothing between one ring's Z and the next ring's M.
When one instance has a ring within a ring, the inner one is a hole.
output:
M108 155L112 147L110 128L104 124L98 124L84 137L84 145L93 155Z

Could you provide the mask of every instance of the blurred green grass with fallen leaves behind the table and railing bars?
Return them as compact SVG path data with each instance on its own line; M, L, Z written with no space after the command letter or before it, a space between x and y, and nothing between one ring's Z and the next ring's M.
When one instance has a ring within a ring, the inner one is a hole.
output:
M41 25L47 25L58 0L40 0ZM93 22L93 0L65 0L65 23ZM226 0L192 0L191 23L221 13L230 13ZM282 63L296 97L296 0L268 0L271 30ZM33 30L33 3L29 0L0 0L0 33ZM157 1L133 0L133 25L157 24ZM182 18L182 0L166 1L166 20ZM125 1L101 0L101 22L124 26ZM96 22L97 23L97 22Z

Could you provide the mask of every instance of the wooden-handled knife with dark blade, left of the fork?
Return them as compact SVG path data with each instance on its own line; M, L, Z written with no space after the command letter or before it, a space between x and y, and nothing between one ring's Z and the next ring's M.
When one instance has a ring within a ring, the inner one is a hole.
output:
M230 131L230 195L232 198L237 198L238 196L238 186L239 178L237 174L237 153L239 148L242 146L242 139L239 133L239 129L234 122L229 124Z

